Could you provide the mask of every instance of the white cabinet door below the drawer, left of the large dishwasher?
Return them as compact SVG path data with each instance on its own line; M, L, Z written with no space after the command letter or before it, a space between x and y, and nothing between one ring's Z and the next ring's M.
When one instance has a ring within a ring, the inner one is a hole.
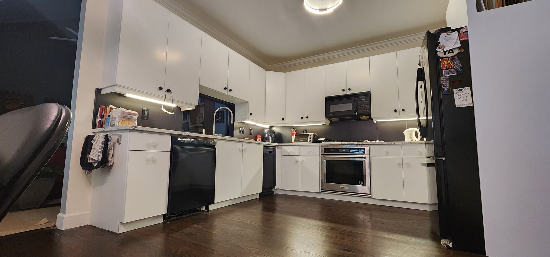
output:
M166 214L170 152L130 151L127 172L124 220L120 222Z

